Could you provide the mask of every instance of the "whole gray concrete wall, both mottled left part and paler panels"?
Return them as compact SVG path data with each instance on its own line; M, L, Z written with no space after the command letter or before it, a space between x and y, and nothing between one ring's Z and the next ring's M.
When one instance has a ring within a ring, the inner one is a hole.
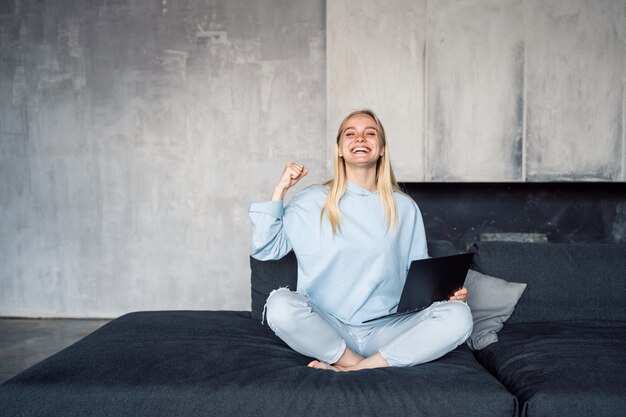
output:
M402 181L626 180L625 9L0 2L0 316L247 309L248 204L364 106Z

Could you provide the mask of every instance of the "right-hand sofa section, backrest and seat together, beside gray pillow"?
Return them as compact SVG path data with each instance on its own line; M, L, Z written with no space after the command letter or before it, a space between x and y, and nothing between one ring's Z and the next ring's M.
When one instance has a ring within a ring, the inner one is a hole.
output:
M626 245L480 242L473 268L526 282L476 358L521 415L626 416Z

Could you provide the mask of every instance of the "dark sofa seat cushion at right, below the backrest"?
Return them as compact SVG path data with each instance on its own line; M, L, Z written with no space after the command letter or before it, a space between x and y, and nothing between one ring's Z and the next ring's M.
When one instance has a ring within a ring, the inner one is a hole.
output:
M507 324L476 357L522 415L626 415L626 322Z

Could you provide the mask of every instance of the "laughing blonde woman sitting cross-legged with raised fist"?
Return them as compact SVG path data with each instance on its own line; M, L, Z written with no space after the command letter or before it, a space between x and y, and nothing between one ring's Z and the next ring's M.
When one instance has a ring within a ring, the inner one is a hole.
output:
M310 367L351 371L412 366L439 358L472 330L465 288L415 314L364 324L395 311L411 261L428 257L419 208L398 189L385 131L371 110L349 114L337 134L334 178L283 208L307 175L285 165L271 201L250 205L251 254L280 259L294 250L298 288L269 295L266 320Z

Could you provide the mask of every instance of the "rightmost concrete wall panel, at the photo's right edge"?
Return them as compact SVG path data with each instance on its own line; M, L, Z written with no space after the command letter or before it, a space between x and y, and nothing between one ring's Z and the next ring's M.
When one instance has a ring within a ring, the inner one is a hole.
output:
M625 2L525 4L528 180L619 180Z

